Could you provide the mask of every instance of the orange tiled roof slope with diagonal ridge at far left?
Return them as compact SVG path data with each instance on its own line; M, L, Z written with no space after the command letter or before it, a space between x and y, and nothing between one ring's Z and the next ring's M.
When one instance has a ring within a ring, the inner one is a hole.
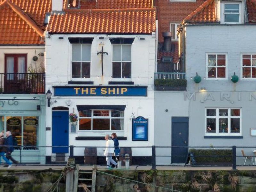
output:
M0 44L43 44L39 39L44 31L9 0L0 4L0 34Z

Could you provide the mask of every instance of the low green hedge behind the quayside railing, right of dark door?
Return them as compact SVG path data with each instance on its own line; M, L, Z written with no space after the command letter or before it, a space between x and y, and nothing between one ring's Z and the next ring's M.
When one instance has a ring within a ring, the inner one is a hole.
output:
M208 156L195 157L196 164L232 164L232 150L229 149L190 149L189 152L194 153L194 156Z

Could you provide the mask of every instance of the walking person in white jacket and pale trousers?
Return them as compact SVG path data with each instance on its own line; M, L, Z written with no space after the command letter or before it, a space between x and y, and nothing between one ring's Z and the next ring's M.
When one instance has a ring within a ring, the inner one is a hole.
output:
M113 165L117 165L117 163L112 159L113 153L114 153L114 141L111 139L109 135L105 136L106 140L106 149L104 152L104 156L106 156L106 162L107 162L107 168L110 169L110 162Z

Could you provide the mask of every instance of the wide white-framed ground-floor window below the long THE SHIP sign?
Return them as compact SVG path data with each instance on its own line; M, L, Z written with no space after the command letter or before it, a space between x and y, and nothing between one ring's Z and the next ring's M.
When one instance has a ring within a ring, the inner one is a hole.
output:
M124 130L124 112L105 109L79 111L79 130Z

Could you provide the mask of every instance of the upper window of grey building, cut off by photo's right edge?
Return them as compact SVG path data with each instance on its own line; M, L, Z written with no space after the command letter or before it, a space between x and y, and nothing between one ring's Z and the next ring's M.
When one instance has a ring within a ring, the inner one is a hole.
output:
M242 55L243 78L256 78L256 54Z

